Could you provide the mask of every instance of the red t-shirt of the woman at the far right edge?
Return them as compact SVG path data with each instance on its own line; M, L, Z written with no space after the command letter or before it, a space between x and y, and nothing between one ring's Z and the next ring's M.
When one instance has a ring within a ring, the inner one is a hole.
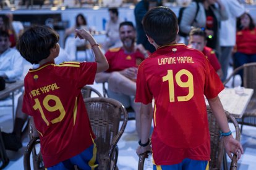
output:
M236 33L237 52L256 54L256 28L241 30Z

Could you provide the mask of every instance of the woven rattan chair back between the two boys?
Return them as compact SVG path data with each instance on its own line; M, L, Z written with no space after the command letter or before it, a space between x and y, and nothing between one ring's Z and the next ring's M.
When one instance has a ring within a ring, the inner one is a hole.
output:
M127 124L126 108L117 100L105 97L88 98L84 102L96 136L99 169L115 169L117 142Z

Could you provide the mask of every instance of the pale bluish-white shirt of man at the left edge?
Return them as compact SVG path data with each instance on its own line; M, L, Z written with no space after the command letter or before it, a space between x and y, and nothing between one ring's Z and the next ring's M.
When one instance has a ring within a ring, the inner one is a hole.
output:
M23 58L16 49L9 48L0 54L0 75L4 75L10 80L22 78Z

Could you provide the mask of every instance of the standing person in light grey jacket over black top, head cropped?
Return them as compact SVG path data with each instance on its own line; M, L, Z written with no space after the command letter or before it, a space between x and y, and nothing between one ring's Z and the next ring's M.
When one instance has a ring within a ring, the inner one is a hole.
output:
M220 21L227 19L228 14L220 0L194 0L184 9L179 29L189 34L194 27L202 28L207 33L207 47L211 47L218 57L220 54Z

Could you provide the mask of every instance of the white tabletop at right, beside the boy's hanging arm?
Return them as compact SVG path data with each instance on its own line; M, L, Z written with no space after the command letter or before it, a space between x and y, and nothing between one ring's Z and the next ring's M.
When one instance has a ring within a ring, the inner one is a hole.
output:
M252 94L254 94L254 89L244 88L242 94L237 94L235 88L225 88L220 92L219 97L224 110L228 111L234 118L242 118ZM208 101L205 101L208 105Z

